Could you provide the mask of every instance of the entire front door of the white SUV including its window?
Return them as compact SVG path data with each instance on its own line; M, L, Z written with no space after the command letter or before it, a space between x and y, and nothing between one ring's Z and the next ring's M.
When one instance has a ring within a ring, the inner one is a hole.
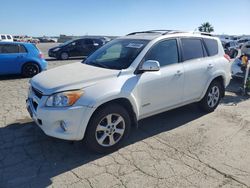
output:
M176 39L155 44L144 58L160 64L157 72L145 72L140 78L141 116L161 111L182 103L184 72L179 63Z

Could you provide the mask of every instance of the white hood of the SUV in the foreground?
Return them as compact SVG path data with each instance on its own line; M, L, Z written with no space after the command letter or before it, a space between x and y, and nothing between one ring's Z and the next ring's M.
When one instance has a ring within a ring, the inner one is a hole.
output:
M60 91L82 89L111 77L119 70L104 69L81 62L44 71L31 79L31 85L44 95Z

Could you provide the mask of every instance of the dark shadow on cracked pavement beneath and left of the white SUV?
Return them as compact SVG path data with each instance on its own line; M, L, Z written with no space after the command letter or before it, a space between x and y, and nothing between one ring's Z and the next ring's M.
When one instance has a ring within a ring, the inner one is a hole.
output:
M124 147L203 115L196 105L188 105L141 120ZM29 118L18 120L0 128L0 187L46 187L52 178L104 156L88 151L83 141L46 136Z

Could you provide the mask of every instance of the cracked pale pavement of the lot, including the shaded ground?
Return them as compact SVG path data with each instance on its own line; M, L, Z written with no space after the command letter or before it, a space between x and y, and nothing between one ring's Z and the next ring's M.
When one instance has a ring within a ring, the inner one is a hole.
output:
M39 44L46 52L55 44ZM79 61L49 60L49 68ZM250 187L250 100L232 82L218 109L147 118L126 146L95 155L46 136L25 109L29 79L0 78L0 187Z

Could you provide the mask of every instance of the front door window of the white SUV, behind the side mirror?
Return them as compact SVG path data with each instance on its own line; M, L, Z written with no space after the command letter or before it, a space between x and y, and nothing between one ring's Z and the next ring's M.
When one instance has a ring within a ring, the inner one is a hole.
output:
M159 61L161 67L178 63L178 48L176 40L162 41L147 53L146 60Z

